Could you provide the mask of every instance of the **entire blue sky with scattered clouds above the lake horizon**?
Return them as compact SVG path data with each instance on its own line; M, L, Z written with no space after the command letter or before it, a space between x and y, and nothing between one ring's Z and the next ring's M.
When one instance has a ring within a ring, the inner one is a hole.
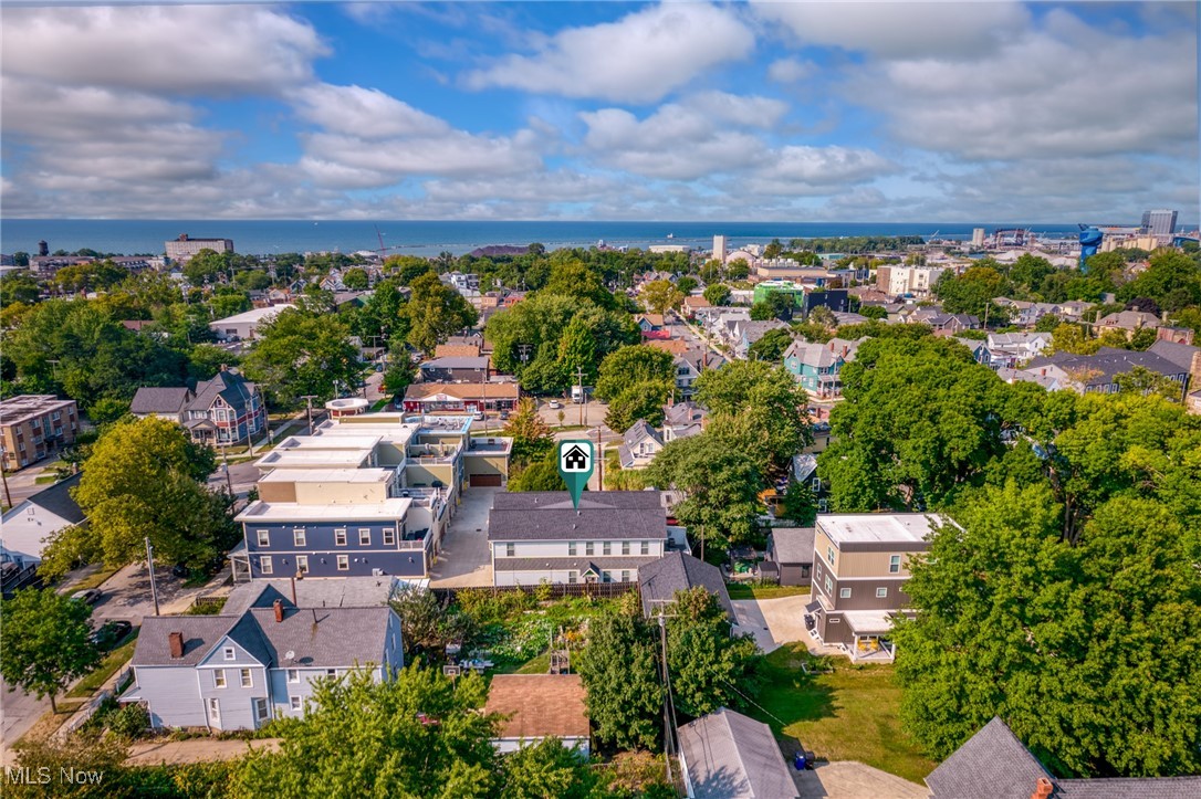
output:
M1196 4L0 10L7 217L1199 218Z

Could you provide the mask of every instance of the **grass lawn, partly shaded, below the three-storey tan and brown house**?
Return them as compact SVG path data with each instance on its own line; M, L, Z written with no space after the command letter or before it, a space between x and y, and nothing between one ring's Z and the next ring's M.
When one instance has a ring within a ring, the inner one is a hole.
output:
M853 666L838 657L832 674L806 675L800 666L809 657L800 643L767 655L769 684L759 704L776 719L763 710L754 715L819 758L860 761L921 783L936 764L901 729L901 689L892 667Z

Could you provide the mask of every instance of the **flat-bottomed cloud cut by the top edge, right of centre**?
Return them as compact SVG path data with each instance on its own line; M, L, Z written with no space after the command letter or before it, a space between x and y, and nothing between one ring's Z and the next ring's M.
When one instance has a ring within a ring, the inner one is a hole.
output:
M802 44L862 50L880 58L976 58L1029 24L1017 2L778 2L755 0L769 23ZM778 78L777 78L778 79Z

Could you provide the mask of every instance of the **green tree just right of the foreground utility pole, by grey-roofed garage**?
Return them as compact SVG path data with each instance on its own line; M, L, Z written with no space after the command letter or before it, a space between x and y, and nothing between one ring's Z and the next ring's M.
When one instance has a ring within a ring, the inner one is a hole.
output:
M665 611L668 665L676 710L703 716L718 708L749 709L759 692L759 647L751 635L730 635L730 619L709 589L676 591Z

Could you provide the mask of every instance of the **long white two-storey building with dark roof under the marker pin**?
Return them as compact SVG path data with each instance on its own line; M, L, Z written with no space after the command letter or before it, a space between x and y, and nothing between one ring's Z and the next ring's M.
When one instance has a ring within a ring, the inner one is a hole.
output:
M494 585L631 583L668 551L658 491L497 493L488 515Z

